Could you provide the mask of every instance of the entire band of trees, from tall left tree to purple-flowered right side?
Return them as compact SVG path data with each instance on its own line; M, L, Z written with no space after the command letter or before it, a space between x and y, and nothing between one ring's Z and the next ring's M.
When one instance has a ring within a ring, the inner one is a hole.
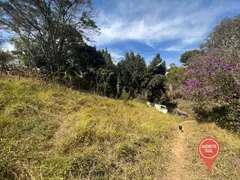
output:
M187 67L171 67L166 81L166 64L160 54L147 66L140 54L127 52L115 65L107 49L97 50L86 44L87 32L99 32L93 21L91 1L13 0L1 2L0 8L1 28L17 35L13 42L18 59L26 67L38 68L41 75L67 86L104 96L119 98L124 92L132 98L142 96L150 102L161 102L166 89L172 98L182 97L185 80L189 78L185 91L188 98L217 99L218 103L231 107L239 103L239 71L229 69L239 67L239 32L236 31L239 15L223 20L201 45L201 50L183 53L180 62ZM204 57L216 54L221 58ZM7 59L2 58L2 69ZM218 91L216 87L212 91L217 82Z

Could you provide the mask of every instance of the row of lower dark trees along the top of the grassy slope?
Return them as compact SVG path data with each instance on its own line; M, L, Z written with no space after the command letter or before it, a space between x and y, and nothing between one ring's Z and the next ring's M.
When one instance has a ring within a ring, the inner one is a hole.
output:
M107 48L97 50L85 44L75 54L75 61L71 65L65 65L65 69L59 69L53 73L51 64L39 59L36 66L20 51L13 51L20 59L16 63L16 56L10 52L0 52L1 76L10 74L37 76L45 80L57 80L68 87L87 90L99 95L113 98L141 98L151 102L161 102L165 93L166 63L157 54L147 66L140 54L127 52L125 58L114 64ZM15 62L15 63L12 63ZM124 94L124 95L122 95Z

